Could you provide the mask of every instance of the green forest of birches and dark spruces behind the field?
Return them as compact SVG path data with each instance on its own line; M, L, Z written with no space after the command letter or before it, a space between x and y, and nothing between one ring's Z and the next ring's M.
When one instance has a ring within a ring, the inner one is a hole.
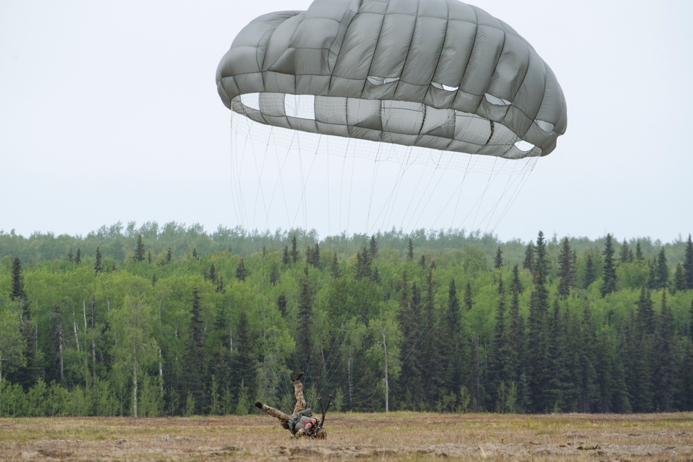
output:
M0 416L693 411L693 244L0 232Z

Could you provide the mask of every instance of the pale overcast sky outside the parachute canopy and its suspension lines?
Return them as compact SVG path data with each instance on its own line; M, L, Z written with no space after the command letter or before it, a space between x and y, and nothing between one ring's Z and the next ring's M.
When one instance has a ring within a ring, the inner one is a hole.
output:
M693 232L693 2L472 3L534 46L568 103L566 134L493 232ZM0 0L0 230L243 224L216 67L254 17L309 4Z

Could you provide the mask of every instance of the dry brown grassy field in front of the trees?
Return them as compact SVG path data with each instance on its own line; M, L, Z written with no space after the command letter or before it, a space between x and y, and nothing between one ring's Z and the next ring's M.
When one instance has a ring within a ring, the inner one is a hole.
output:
M693 413L335 413L327 440L269 416L0 419L0 461L693 460Z

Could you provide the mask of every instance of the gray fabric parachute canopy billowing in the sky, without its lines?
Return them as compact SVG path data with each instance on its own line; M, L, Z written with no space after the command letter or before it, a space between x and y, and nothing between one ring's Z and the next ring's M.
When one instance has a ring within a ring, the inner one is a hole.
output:
M238 34L224 104L272 126L443 151L547 155L563 91L505 22L457 0L315 0Z

